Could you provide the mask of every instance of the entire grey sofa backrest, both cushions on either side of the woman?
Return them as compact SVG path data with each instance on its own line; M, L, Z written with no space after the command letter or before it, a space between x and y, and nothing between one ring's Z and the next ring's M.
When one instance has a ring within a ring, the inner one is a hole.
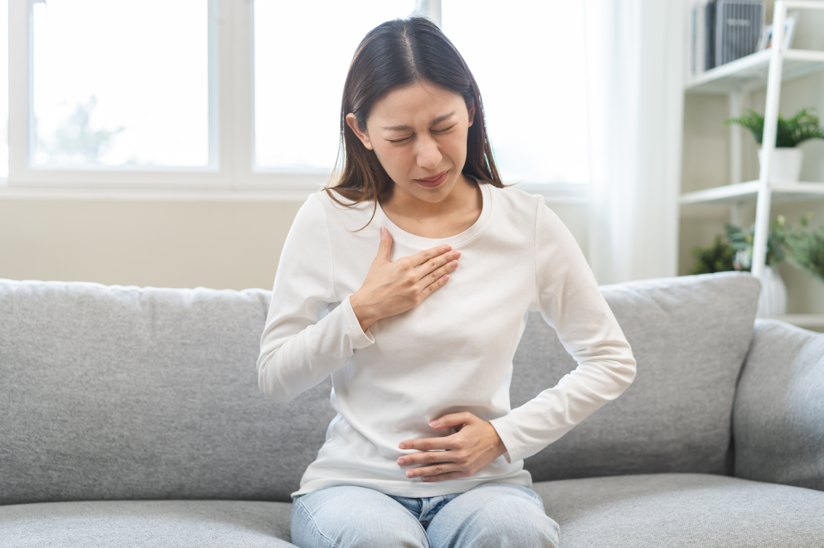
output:
M638 375L527 459L535 481L728 473L759 283L723 273L602 286ZM0 280L0 504L289 501L335 415L327 379L286 405L257 386L270 293ZM530 318L513 406L575 367Z

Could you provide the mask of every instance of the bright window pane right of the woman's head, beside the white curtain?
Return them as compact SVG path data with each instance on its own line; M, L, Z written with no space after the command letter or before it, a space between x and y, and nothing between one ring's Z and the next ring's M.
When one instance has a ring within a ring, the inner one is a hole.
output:
M507 182L589 179L583 2L442 0Z

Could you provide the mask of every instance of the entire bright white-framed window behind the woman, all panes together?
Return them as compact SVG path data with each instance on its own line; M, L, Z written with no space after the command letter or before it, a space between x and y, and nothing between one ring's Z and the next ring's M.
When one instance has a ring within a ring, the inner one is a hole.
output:
M302 199L335 165L358 43L412 13L469 63L506 182L586 182L582 2L0 0L0 193Z

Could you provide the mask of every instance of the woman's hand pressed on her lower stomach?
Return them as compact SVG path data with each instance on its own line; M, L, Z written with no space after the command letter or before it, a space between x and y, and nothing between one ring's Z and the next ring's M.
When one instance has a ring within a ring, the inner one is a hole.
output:
M442 438L409 439L400 442L398 448L421 449L424 453L404 455L398 458L398 466L428 465L410 468L406 471L406 477L423 476L424 481L468 477L488 467L490 462L507 452L495 427L468 411L444 415L432 420L429 425L437 429L457 426L459 430Z

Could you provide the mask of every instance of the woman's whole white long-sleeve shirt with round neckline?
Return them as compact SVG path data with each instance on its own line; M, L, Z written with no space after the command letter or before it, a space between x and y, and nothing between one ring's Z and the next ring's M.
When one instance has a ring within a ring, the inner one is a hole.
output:
M483 207L459 235L400 230L375 202L342 207L312 194L283 246L257 361L260 388L285 403L332 376L338 411L292 496L333 485L387 495L462 493L487 482L531 485L523 459L559 439L632 383L635 360L573 235L543 197L480 183ZM347 202L340 198L341 201ZM417 307L363 332L349 304L377 254L380 227L391 260L451 244L460 266ZM516 409L513 355L527 313L541 312L578 366ZM470 411L494 425L507 453L474 476L424 482L398 466L408 439L456 432L430 420Z

